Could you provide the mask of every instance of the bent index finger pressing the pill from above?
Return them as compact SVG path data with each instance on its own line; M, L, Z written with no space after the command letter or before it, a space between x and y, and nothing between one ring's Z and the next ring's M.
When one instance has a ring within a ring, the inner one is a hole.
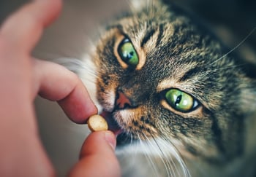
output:
M34 60L34 96L58 101L67 116L76 123L85 123L97 108L89 97L83 82L64 66L43 60Z

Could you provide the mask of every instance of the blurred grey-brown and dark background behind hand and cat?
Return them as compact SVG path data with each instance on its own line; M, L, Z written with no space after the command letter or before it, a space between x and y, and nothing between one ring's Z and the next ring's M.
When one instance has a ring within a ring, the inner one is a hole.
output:
M256 1L253 0L173 1L206 20L230 48L256 27ZM1 0L0 24L26 2ZM45 30L34 55L44 60L80 58L89 52L91 42L97 39L95 31L100 31L102 24L115 14L127 10L128 0L64 0L59 19ZM235 52L256 66L256 31ZM54 102L36 98L35 107L43 145L58 175L65 176L78 160L80 146L88 133L86 125L75 125L69 121Z

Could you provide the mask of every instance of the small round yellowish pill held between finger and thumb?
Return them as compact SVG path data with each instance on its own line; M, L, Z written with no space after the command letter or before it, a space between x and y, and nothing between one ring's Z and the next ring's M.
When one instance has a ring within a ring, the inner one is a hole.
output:
M107 121L98 114L89 117L89 119L87 120L87 124L92 132L99 130L108 130Z

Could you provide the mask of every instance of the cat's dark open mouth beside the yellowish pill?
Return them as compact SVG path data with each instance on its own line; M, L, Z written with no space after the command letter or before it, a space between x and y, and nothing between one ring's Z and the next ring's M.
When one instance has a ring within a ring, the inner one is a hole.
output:
M124 146L131 141L128 133L118 125L118 122L116 122L111 112L102 111L100 115L108 122L108 130L116 135L117 146Z

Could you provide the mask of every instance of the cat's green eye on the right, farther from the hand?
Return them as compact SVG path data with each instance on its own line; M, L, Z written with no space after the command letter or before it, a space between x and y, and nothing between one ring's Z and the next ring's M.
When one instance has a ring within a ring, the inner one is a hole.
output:
M189 94L178 89L170 89L165 93L167 103L176 111L189 112L198 106L198 102Z

